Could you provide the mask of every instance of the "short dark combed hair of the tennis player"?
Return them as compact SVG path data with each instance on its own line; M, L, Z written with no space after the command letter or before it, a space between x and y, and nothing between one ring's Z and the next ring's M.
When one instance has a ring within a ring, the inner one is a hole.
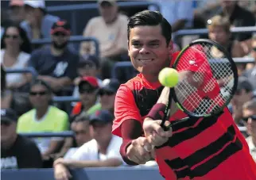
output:
M167 45L172 40L172 26L158 11L143 10L130 17L127 28L128 40L130 40L130 29L139 25L161 25L161 32L165 36Z

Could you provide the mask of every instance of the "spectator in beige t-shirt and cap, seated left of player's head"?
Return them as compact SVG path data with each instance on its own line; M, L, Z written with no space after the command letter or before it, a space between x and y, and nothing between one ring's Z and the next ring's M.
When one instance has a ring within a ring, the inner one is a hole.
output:
M127 57L127 19L118 13L118 4L115 0L99 0L100 17L92 18L83 31L83 36L94 36L99 40L101 78L111 78L111 68L115 62ZM91 43L82 43L82 56L95 54Z

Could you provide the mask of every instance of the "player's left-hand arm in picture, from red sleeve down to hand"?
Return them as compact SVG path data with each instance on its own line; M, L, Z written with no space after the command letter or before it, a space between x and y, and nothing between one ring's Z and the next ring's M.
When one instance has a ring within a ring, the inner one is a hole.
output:
M122 137L122 159L129 165L143 164L152 159L143 148L151 145L142 137L142 117L131 90L125 85L120 86L116 94L114 115L113 134Z

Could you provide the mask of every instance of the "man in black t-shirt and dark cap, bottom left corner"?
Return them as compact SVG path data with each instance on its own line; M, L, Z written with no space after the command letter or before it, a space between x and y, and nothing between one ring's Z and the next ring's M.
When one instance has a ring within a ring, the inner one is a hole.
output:
M1 109L1 169L41 168L37 145L17 135L17 115L12 109Z

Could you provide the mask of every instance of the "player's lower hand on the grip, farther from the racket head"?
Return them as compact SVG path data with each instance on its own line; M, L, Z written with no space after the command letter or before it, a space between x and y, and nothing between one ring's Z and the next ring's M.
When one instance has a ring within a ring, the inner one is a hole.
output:
M148 162L152 158L153 152L146 151L144 147L153 151L152 145L149 144L149 141L145 137L138 137L136 140L133 140L126 150L128 159L138 164Z

